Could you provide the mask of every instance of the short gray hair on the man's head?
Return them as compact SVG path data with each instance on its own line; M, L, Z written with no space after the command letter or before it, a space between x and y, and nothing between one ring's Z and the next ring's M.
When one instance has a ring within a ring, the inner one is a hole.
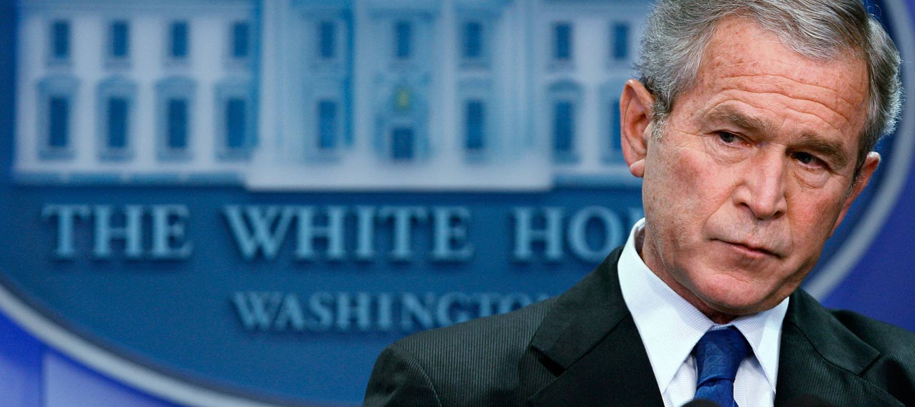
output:
M730 16L755 20L807 58L851 55L867 62L867 121L858 142L857 176L867 152L896 128L902 94L899 50L861 0L658 0L636 65L655 97L653 136L660 135L677 96L694 85L716 23Z

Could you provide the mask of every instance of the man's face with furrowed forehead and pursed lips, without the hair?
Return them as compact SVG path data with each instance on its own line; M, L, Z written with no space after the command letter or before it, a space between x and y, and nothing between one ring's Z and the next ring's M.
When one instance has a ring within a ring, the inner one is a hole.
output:
M853 181L867 66L806 59L733 17L696 83L647 141L642 258L687 300L756 313L798 287L863 188Z

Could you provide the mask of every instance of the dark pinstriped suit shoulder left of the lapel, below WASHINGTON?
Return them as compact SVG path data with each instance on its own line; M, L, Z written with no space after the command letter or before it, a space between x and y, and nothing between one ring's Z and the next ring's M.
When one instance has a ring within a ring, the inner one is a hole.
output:
M554 301L394 342L375 364L366 393L374 404L366 405L520 405L533 392L523 383L552 377L538 368L528 345ZM505 383L517 383L518 389L507 390Z

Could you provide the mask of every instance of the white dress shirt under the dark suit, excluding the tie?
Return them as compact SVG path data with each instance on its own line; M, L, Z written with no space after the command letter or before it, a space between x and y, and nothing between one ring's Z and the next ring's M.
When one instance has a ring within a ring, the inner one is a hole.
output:
M661 281L636 250L645 219L632 227L619 257L619 287L645 345L654 379L658 381L665 407L679 407L695 394L693 347L710 329L734 325L747 338L753 354L737 368L734 400L740 407L771 407L779 371L781 321L788 299L768 311L736 318L727 325L712 322Z

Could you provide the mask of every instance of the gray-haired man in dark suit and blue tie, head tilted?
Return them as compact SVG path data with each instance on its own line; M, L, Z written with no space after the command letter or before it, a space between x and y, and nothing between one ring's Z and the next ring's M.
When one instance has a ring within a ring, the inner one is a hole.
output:
M620 101L645 219L563 295L404 338L367 406L915 405L915 335L799 290L899 111L859 0L662 0Z

